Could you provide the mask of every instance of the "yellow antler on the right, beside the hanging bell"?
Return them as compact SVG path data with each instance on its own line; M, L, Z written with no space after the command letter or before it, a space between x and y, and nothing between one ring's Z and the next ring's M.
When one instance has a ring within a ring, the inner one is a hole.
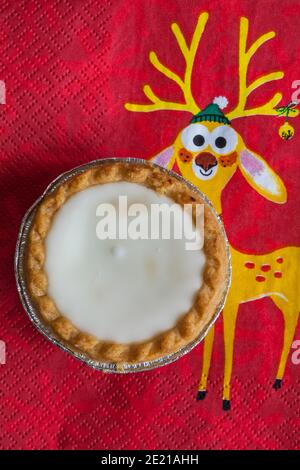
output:
M265 115L265 116L278 116L275 106L281 101L282 94L275 93L273 98L266 104L256 108L246 109L247 98L256 88L264 85L265 83L272 82L273 80L280 80L284 73L276 71L262 75L247 85L247 71L250 60L257 52L257 50L267 41L275 37L274 31L260 36L247 50L249 21L247 18L242 17L240 20L240 40L239 40L239 99L235 109L228 113L227 117L232 120L244 116ZM294 116L298 114L295 113Z

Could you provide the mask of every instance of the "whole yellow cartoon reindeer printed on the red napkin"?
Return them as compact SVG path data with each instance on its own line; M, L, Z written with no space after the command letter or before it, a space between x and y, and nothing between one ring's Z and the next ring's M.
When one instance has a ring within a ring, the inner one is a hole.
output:
M176 163L181 174L209 197L219 214L222 213L222 191L237 169L261 196L274 203L284 204L287 193L283 181L262 156L247 147L242 136L232 126L232 121L236 118L278 114L276 106L282 99L281 93L276 93L264 105L256 108L247 107L247 98L255 89L267 82L279 80L284 75L281 71L275 71L262 75L250 84L247 80L250 60L265 42L275 36L275 33L270 31L263 34L247 48L249 22L247 18L240 19L238 104L235 109L225 115L222 109L228 105L228 101L225 97L217 97L200 111L191 93L191 77L194 59L207 20L208 13L200 14L190 45L187 44L179 26L176 23L172 24L172 31L186 63L184 79L163 65L154 52L151 52L149 56L150 62L159 72L179 85L185 102L162 101L149 85L145 85L144 93L150 103L126 103L125 108L135 112L176 110L192 113L193 118L190 124L179 132L174 143L156 155L153 161L169 169L173 168ZM294 116L298 114L298 110L295 110ZM283 346L273 385L275 389L281 387L300 310L300 296L295 289L300 276L299 247L289 246L263 255L252 255L243 253L230 245L230 252L232 282L222 312L225 346L224 410L230 409L233 347L239 305L270 297L282 312ZM213 342L214 327L209 330L204 341L198 400L204 399L206 395Z

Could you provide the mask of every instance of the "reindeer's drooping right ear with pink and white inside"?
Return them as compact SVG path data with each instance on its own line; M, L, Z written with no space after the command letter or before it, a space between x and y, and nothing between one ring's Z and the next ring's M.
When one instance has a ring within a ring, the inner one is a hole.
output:
M283 181L262 157L245 148L240 152L239 168L250 186L261 196L278 204L286 202Z

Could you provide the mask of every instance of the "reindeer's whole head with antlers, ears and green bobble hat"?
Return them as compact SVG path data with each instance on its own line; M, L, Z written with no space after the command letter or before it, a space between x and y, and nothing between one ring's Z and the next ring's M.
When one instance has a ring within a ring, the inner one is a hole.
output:
M226 112L225 116L222 111L228 105L225 96L215 97L200 110L192 94L194 60L207 20L208 13L202 12L189 45L178 24L172 24L172 32L186 63L183 78L164 65L154 51L149 54L154 68L179 85L185 102L161 100L147 84L143 90L149 103L126 103L125 108L134 112L188 111L193 115L192 124L180 132L174 144L155 155L152 161L168 169L172 169L176 162L181 174L209 197L218 212L221 212L222 191L237 168L260 195L279 204L285 203L287 194L284 183L263 157L246 147L241 136L230 126L236 118L278 116L276 106L281 100L281 93L275 93L273 98L255 108L247 106L250 93L265 83L281 79L284 75L278 70L261 75L252 82L248 80L248 65L252 57L266 41L275 36L275 33L269 31L247 47L249 22L247 18L241 17L238 50L239 98L236 107ZM293 117L298 115L299 110L295 110Z

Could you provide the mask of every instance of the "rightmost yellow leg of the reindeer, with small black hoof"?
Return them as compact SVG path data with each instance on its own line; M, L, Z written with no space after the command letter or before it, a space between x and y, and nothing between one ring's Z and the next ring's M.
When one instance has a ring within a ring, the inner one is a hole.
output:
M281 351L279 366L276 374L276 380L273 384L273 388L278 390L281 388L282 377L284 375L285 366L289 352L291 350L293 338L295 336L295 330L298 323L299 312L295 308L294 302L286 302L280 297L272 297L273 302L281 310L284 318L284 335L283 335L283 347Z

